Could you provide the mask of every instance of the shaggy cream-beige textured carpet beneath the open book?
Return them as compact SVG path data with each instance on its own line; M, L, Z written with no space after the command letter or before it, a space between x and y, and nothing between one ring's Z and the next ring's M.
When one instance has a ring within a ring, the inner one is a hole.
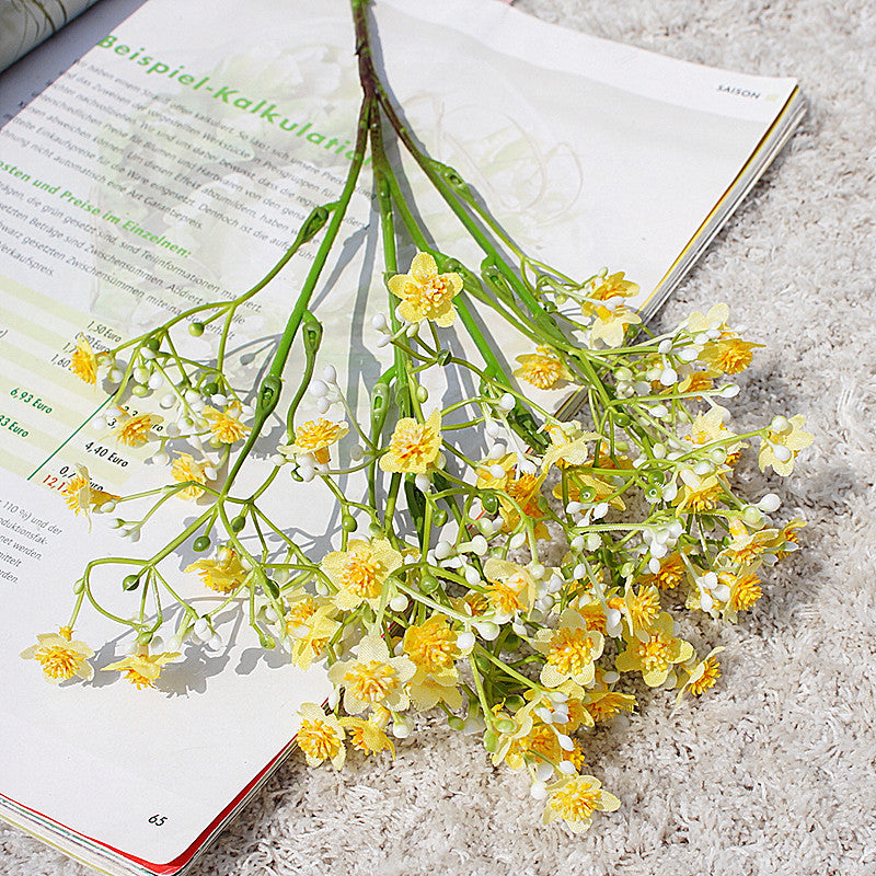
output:
M293 757L196 876L876 873L876 16L846 0L520 0L569 27L692 61L797 77L810 112L661 315L727 301L766 345L738 408L805 413L816 446L771 482L809 520L723 644L711 695L658 693L590 737L622 799L589 834L539 823L527 782L423 725L392 765ZM753 422L753 420L752 420ZM428 730L428 731L427 731ZM0 827L0 872L85 871Z

